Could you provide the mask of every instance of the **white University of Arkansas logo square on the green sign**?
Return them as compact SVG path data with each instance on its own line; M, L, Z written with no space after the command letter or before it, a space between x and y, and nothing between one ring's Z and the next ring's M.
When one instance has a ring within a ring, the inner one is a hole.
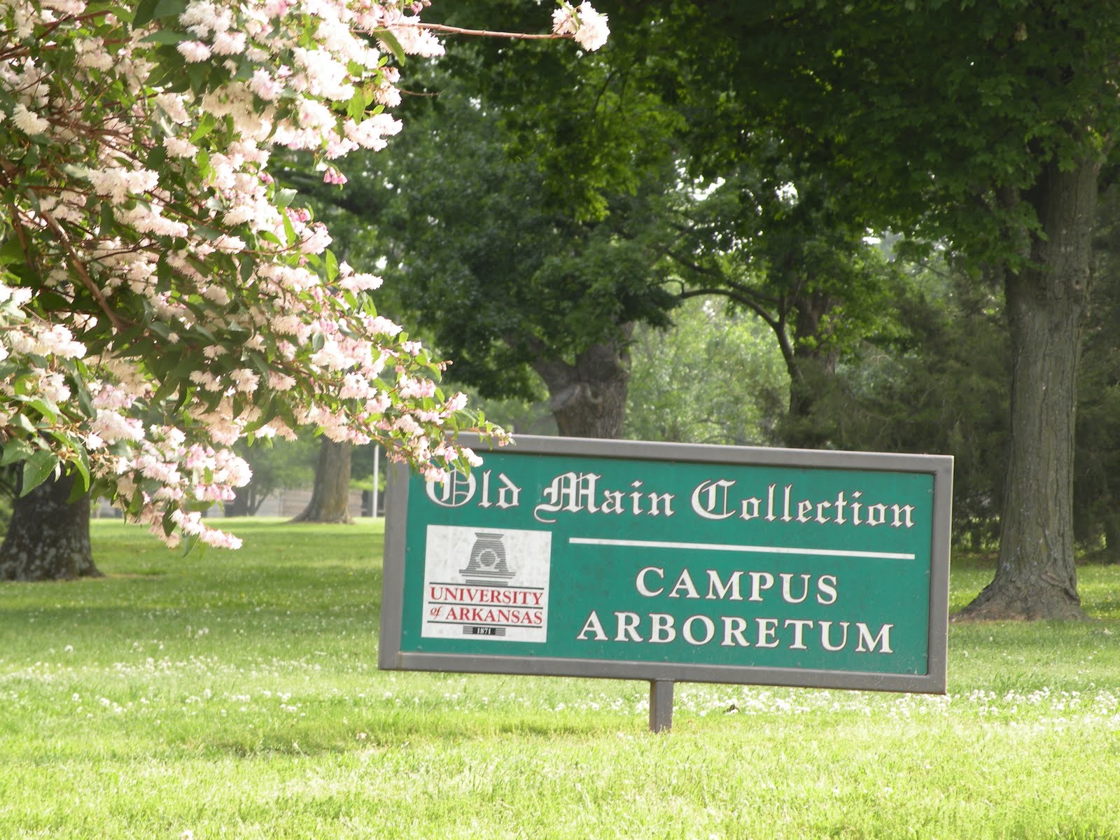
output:
M421 635L544 642L552 534L429 525Z

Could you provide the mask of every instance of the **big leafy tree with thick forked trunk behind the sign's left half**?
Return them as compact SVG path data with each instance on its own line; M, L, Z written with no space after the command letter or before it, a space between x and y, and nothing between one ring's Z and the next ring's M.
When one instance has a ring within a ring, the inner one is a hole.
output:
M472 66L473 49L452 46L457 68ZM516 105L479 101L447 76L407 103L404 153L368 157L356 188L317 195L349 214L336 228L375 227L379 244L392 243L383 271L398 311L455 360L457 381L485 396L523 399L543 382L562 435L614 438L623 430L634 325L664 324L675 302L661 287L655 243L657 204L679 176L663 116L600 67L587 73L598 95L566 110L567 121L595 123L610 143L617 123L647 130L642 149L615 147L626 157L641 152L643 162L596 194L594 206L558 200L549 187L548 137L513 151L505 111ZM298 170L287 177L311 187Z

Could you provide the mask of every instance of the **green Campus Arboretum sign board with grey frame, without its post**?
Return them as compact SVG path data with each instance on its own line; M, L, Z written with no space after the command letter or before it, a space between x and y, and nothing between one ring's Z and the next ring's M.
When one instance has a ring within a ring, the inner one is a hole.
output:
M519 438L390 488L380 664L941 692L952 459Z

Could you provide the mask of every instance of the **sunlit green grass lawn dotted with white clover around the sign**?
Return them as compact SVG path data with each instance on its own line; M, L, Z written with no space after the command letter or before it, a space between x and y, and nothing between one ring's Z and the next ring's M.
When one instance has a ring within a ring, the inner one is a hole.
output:
M381 524L233 522L0 584L0 838L1120 840L1120 567L953 625L948 696L682 683L653 735L644 682L377 671Z

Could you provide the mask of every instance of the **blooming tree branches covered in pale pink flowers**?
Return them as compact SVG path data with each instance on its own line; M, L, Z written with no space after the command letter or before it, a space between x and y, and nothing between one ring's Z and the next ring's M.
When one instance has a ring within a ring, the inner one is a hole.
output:
M236 547L200 511L249 480L242 438L376 440L431 480L478 463L455 432L503 438L269 176L283 147L342 185L386 146L403 56L442 50L427 6L0 0L0 465L25 493L74 475L171 544ZM562 2L539 37L606 35Z

